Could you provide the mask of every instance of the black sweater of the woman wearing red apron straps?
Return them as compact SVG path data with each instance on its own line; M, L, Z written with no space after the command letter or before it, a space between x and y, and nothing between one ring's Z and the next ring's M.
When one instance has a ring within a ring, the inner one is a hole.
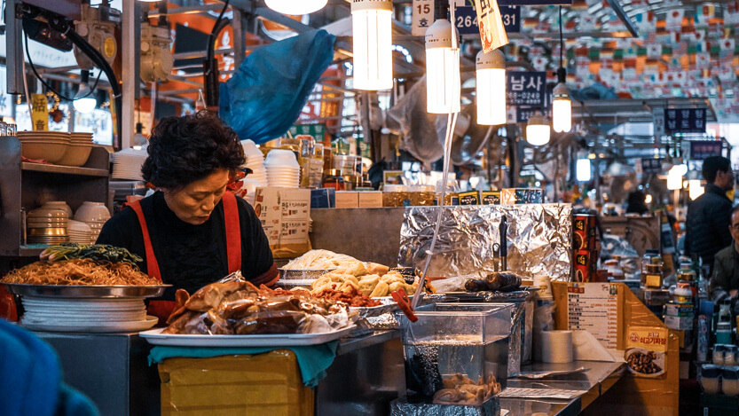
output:
M241 198L236 200L241 228L241 273L256 286L266 284L277 276L267 236L248 202ZM141 208L161 280L173 285L162 299L174 300L178 288L193 294L200 287L228 275L223 201L218 203L208 221L200 225L187 224L177 218L162 192L141 200ZM127 248L144 259L138 263L141 271L148 270L141 226L132 208L123 208L107 221L98 244Z

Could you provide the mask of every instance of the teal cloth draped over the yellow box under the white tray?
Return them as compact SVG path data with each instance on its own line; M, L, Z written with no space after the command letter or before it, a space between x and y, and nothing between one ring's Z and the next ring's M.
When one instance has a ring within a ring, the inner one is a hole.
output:
M273 349L289 349L295 353L300 366L303 384L318 386L318 381L326 377L326 369L334 363L339 341L302 347L251 347L251 348L204 348L204 347L154 347L149 353L149 365L159 364L167 358L190 357L208 358L233 355L254 355L270 352Z

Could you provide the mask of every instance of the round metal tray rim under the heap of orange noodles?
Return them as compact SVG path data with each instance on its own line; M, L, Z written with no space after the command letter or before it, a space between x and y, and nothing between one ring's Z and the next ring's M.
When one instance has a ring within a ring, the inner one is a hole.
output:
M172 285L158 286L72 286L3 283L10 294L34 297L125 298L161 296Z

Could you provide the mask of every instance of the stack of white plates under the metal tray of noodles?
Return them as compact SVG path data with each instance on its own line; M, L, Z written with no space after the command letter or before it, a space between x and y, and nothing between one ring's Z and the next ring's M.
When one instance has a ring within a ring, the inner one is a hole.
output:
M20 323L36 331L135 332L149 329L157 318L146 316L143 299L22 297Z

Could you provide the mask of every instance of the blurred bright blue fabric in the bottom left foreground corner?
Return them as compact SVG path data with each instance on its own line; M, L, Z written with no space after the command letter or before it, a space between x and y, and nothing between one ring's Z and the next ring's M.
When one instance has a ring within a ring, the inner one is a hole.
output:
M49 344L0 319L0 414L96 416L90 399L65 386Z

